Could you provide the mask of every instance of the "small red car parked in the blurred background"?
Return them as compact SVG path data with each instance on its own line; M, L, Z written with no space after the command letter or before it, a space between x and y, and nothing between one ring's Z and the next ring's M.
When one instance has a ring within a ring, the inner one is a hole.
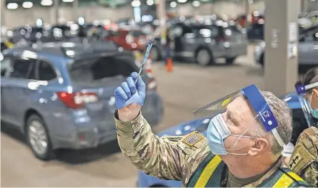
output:
M146 47L146 34L137 29L119 28L118 31L109 31L106 39L114 41L126 51L143 51Z

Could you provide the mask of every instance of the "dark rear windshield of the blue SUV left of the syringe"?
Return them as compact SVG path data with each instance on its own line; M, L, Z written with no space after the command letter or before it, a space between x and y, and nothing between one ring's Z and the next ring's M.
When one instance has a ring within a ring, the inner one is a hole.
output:
M138 71L136 66L123 59L103 57L75 62L69 73L75 83L91 83L117 76L128 77L134 71Z

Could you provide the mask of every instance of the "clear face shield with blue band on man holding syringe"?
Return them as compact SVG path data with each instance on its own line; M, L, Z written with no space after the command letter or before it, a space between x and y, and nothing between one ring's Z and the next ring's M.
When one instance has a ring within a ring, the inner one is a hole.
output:
M284 146L276 130L277 120L256 85L204 105L194 111L194 117L211 119L207 140L215 155L247 155L249 145L245 139L265 137L269 133ZM259 126L263 126L264 131L259 131Z

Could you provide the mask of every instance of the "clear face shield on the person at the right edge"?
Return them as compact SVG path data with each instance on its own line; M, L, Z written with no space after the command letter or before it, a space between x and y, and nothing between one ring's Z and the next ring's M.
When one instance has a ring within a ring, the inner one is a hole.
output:
M312 88L316 88L318 86L317 83L311 83L309 85L297 85L295 86L296 92L298 95L299 103L302 106L302 111L304 112L304 117L306 119L308 127L314 125L315 121L313 116L317 116L318 114L315 115L316 109L312 109ZM317 118L316 117L316 118Z

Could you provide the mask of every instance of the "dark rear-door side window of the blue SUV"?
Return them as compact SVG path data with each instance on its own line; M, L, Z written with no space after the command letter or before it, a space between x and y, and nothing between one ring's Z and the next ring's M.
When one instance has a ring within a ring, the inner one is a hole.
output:
M11 68L10 77L12 78L34 78L34 68L36 60L34 59L15 59Z

